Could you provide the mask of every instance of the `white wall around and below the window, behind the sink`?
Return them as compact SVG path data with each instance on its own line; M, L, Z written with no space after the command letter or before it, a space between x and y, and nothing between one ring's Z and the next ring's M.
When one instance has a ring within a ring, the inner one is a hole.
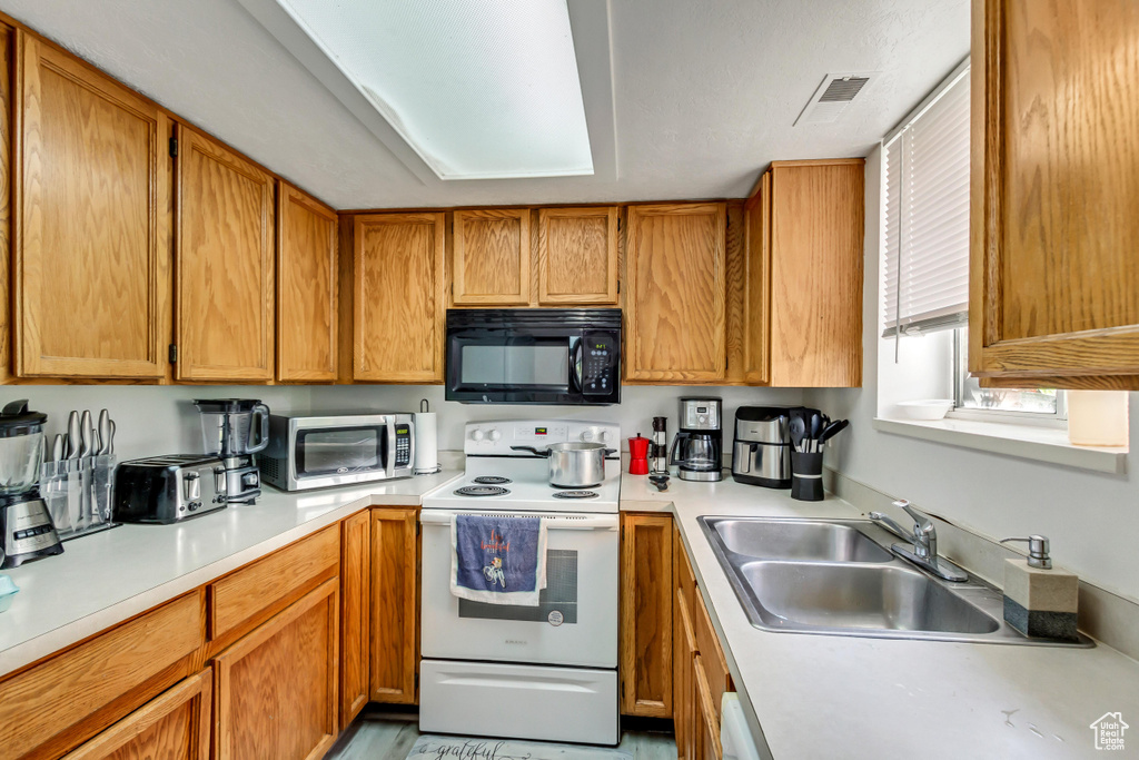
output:
M828 465L991 538L1043 533L1057 564L1139 600L1139 425L1131 426L1126 475L1107 475L880 433L871 427L878 386L878 152L866 165L865 373L861 389L808 391L805 403L851 427ZM886 350L892 344L883 344ZM902 350L906 350L903 343ZM1131 408L1139 409L1139 393Z

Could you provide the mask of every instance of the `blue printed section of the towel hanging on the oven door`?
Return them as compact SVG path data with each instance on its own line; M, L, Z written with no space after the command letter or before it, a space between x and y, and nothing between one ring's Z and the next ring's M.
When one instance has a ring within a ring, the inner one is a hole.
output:
M458 515L456 582L475 591L538 590L539 517Z

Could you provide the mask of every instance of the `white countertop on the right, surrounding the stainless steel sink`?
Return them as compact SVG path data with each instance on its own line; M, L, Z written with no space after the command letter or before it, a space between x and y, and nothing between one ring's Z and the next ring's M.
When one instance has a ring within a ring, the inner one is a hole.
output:
M753 628L696 518L702 515L859 517L850 504L673 477L657 492L624 475L622 510L671 510L760 751L795 758L1100 757L1090 724L1139 720L1139 662L1091 649L771 632ZM1132 738L1133 737L1133 738ZM1139 757L1139 729L1126 736Z

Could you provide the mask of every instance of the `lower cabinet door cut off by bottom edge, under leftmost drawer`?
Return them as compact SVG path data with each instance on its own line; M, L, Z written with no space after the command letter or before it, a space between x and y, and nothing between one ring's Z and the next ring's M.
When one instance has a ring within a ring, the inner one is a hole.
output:
M65 760L210 760L213 671L206 668L65 755Z

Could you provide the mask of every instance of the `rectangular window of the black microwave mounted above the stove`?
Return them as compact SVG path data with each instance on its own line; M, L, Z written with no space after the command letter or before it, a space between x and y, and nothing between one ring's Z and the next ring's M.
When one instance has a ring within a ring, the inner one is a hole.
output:
M565 338L518 345L467 344L462 346L464 385L570 384L570 348Z

